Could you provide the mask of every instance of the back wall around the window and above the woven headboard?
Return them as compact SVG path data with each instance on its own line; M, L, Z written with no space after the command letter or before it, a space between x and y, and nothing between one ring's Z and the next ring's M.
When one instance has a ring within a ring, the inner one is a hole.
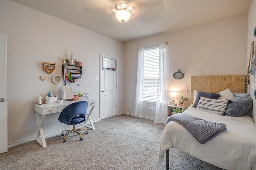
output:
M246 75L247 14L127 42L124 44L124 111L126 113L134 112L138 55L136 48L164 42L168 42L166 47L169 69L168 89L181 91L182 85L188 85L188 93L179 92L178 98L182 95L190 98L191 75ZM185 75L181 80L172 77L178 69ZM190 101L187 100L186 103L188 107ZM144 104L142 108L144 117L154 117L150 110L151 106L152 104Z

